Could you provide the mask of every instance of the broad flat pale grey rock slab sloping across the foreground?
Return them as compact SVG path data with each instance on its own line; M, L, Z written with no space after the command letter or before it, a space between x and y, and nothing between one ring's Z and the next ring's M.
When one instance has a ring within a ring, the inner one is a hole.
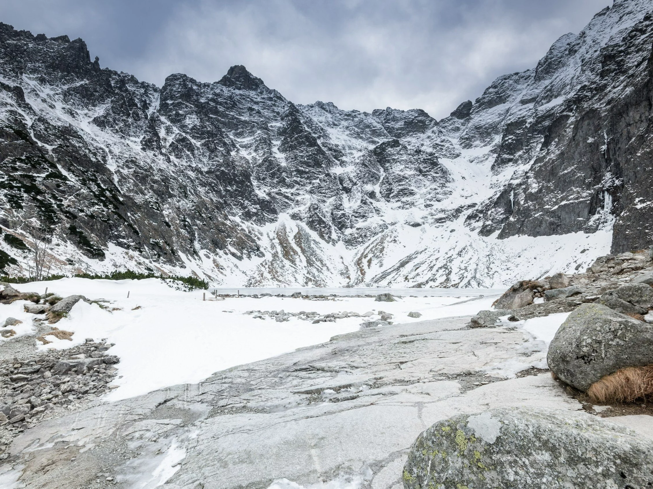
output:
M581 408L548 373L488 375L543 353L528 351L518 329L467 329L469 321L363 329L40 422L10 445L6 475L30 489L131 488L150 487L161 467L170 489L341 477L400 489L411 445L434 422L505 406Z

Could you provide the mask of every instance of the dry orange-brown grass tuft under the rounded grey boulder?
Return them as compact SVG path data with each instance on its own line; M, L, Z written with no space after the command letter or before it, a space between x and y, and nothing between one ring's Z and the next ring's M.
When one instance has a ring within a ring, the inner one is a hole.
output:
M594 382L587 390L597 404L633 402L653 394L653 365L627 367Z

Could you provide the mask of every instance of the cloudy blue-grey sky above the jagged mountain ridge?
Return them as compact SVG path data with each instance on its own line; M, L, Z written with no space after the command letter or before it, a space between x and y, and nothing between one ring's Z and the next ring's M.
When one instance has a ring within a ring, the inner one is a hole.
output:
M14 0L0 21L81 37L102 67L161 86L245 65L296 103L422 108L440 119L535 66L611 0Z

